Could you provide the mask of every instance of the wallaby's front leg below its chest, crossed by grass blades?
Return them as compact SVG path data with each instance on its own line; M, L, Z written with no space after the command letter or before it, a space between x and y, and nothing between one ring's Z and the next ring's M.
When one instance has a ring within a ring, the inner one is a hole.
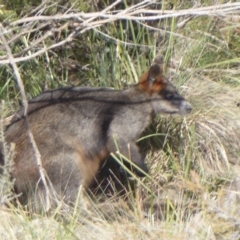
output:
M126 158L136 164L143 172L148 173L148 167L145 164L144 158L140 154L139 148L135 143L128 143L123 139L113 140L109 143L108 150L110 152L116 153L118 156L120 156L120 154L124 155ZM129 166L130 164L126 163L125 165ZM138 176L145 176L145 174L139 169L135 168L134 166L132 166L132 168Z

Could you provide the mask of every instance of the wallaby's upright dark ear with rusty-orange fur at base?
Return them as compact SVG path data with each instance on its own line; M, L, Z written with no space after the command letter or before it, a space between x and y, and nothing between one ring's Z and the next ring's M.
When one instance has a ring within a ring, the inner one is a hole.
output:
M150 93L161 90L164 86L162 66L163 57L156 57L150 69L141 77L139 87Z

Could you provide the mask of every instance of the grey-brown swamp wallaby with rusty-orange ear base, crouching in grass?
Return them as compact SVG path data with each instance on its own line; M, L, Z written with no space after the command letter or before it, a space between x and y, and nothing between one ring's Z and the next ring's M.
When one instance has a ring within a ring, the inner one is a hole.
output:
M75 201L80 185L91 184L111 153L125 155L142 170L133 168L136 174L144 175L148 168L135 142L153 115L191 112L191 105L163 76L161 64L156 58L139 83L125 90L60 88L29 101L28 122L43 168L64 201ZM15 144L15 190L25 200L43 191L26 126L21 109L5 131L6 142Z

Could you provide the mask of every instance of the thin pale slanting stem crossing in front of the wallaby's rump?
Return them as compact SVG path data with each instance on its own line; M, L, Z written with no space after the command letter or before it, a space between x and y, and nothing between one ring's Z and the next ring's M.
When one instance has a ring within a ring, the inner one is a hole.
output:
M4 28L3 28L1 23L0 23L0 30L2 32L4 31ZM23 104L23 108L24 108L24 117L25 117L26 127L27 127L27 131L28 131L28 136L30 138L30 142L32 144L32 147L33 147L33 150L34 150L34 153L35 153L35 158L36 158L36 161L37 161L39 174L40 174L40 177L42 179L43 186L44 186L44 189L45 189L45 192L46 192L46 211L48 211L50 209L50 191L49 191L49 188L48 188L48 185L47 185L47 182L46 182L44 169L43 169L43 166L42 166L41 155L40 155L40 152L38 150L37 144L34 140L34 137L33 137L33 134L32 134L31 128L30 128L30 123L27 119L28 101L27 101L27 97L26 97L26 94L25 94L24 85L23 85L21 76L19 74L17 64L16 64L16 62L13 58L12 51L11 51L9 45L7 44L7 41L4 37L4 35L1 34L0 37L1 37L1 40L2 40L2 43L3 43L4 47L6 49L10 64L13 68L13 71L14 71L14 74L15 74L15 77L16 77L17 84L18 84L19 89L20 89L20 93L21 93L21 97L22 97L22 104Z

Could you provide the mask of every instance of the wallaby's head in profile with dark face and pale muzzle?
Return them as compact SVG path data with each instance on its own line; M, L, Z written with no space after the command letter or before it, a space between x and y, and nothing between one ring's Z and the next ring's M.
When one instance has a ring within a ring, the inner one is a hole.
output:
M143 74L139 88L151 95L155 113L185 115L191 112L191 105L178 93L173 84L163 76L163 59L157 57L150 69Z

